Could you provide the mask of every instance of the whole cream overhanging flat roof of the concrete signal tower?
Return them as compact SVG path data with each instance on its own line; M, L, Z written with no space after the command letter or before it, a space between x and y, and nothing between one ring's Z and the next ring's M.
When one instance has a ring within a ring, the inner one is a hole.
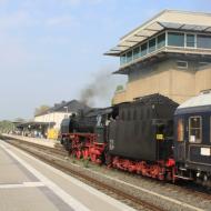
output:
M118 46L104 54L119 57L122 52L167 29L211 33L211 13L164 10L122 37Z

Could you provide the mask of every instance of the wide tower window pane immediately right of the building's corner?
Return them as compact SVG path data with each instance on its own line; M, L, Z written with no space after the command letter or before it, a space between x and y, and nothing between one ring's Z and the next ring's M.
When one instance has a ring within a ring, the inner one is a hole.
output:
M168 46L184 47L184 33L168 32Z

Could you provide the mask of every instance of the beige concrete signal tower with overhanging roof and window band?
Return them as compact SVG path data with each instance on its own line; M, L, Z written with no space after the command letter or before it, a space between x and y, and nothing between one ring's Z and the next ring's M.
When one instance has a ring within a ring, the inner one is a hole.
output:
M113 102L161 93L181 103L211 89L211 13L164 10L104 53L119 57L127 74Z

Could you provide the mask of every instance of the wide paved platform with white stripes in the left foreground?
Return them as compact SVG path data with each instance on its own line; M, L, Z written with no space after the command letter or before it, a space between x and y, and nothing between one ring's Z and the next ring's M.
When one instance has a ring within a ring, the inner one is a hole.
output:
M0 211L134 211L0 140Z

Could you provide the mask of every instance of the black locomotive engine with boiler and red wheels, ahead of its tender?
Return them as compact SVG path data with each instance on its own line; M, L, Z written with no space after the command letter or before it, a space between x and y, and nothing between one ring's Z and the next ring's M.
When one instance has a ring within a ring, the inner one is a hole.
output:
M72 114L61 122L61 143L70 154L78 159L91 159L97 163L104 161L109 135L109 121L118 115L115 108L90 109Z

